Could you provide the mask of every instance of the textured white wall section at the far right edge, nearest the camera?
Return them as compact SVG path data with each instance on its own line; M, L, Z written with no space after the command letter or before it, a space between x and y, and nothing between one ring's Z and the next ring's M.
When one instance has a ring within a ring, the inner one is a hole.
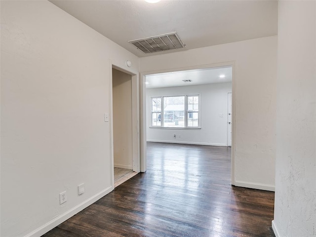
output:
M278 1L276 237L316 236L316 1Z

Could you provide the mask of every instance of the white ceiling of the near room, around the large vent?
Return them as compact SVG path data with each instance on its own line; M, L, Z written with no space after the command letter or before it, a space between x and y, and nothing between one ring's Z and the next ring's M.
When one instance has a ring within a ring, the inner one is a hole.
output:
M187 50L277 35L277 0L50 0L139 57L128 40L177 32ZM174 50L172 50L174 51Z

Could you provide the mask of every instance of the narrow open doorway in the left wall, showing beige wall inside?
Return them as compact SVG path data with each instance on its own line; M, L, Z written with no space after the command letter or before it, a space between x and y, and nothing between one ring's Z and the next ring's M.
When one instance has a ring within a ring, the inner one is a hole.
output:
M139 172L137 76L112 68L113 187Z

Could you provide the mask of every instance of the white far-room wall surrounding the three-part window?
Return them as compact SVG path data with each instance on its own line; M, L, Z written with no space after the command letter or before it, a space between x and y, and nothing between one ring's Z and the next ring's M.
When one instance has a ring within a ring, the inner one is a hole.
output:
M147 141L226 146L228 92L232 92L232 83L147 89ZM152 96L186 94L200 94L201 129L185 130L150 127ZM220 114L223 114L223 117L219 117ZM176 138L173 138L174 134L176 134Z

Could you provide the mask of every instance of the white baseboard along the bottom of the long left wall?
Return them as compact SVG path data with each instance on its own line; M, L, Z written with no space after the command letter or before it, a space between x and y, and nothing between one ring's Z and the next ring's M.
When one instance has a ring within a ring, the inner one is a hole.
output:
M40 237L50 231L51 229L55 228L59 224L63 223L64 221L68 220L70 217L76 215L80 211L82 211L84 208L88 207L92 203L99 200L101 197L104 197L108 193L110 193L113 190L113 187L110 186L106 188L105 190L102 190L98 194L94 195L93 197L90 197L89 199L81 202L79 205L73 207L72 209L68 210L67 212L63 213L60 216L57 216L53 220L49 221L45 225L41 226L40 228L36 229L35 231L31 232L30 234L26 235L25 237Z

